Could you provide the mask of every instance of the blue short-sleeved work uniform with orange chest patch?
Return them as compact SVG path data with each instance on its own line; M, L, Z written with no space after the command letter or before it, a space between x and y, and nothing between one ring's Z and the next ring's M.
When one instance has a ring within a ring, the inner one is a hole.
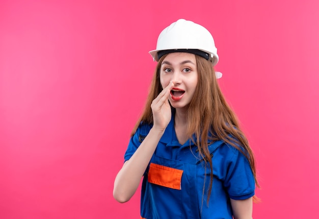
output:
M150 129L148 124L140 124L129 141L125 161L135 153ZM191 140L184 144L178 142L172 116L144 174L141 218L231 219L230 199L254 196L255 180L246 157L224 141L208 143L214 177L207 205L209 165L201 160Z

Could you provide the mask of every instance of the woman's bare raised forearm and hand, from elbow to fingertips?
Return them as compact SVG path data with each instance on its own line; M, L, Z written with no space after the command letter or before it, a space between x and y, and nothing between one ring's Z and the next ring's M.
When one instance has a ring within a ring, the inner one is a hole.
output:
M164 134L164 131L172 118L171 106L168 102L171 89L174 83L162 90L151 104L153 113L153 127L136 150L136 152L127 160L114 181L113 196L118 202L127 202L136 192L141 178L145 173L158 141Z

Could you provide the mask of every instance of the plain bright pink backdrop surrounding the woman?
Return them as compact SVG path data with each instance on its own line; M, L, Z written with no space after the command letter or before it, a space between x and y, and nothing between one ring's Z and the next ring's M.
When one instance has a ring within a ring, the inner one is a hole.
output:
M27 3L28 2L28 3ZM319 2L1 1L0 218L139 218L112 196L178 18L214 36L222 90L258 168L254 218L313 218L319 196Z

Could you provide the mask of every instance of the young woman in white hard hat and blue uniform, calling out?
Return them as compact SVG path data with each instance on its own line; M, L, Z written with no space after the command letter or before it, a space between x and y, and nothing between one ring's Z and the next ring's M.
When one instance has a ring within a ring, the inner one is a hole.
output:
M217 83L211 34L179 19L150 54L158 64L114 198L127 202L144 176L141 218L252 218L254 156Z

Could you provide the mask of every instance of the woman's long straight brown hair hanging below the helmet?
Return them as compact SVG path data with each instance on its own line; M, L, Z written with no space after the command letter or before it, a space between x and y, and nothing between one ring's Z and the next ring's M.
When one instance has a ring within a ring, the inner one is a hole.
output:
M159 74L161 65L167 55L161 57L155 68L154 76L151 82L148 98L142 116L136 123L131 135L134 135L141 121L147 124L153 124L153 114L151 103L162 91ZM248 159L251 166L255 183L259 187L256 178L255 159L248 140L241 131L238 119L233 110L227 104L215 77L215 70L211 62L200 56L195 55L198 72L198 82L192 101L189 104L188 116L188 136L193 141L195 134L199 155L208 163L210 168L210 181L207 192L207 204L212 187L212 161L208 149L208 140L223 140L240 151ZM211 136L211 137L208 137ZM240 146L239 146L240 145ZM203 187L204 193L205 187ZM255 201L258 199L254 196Z

